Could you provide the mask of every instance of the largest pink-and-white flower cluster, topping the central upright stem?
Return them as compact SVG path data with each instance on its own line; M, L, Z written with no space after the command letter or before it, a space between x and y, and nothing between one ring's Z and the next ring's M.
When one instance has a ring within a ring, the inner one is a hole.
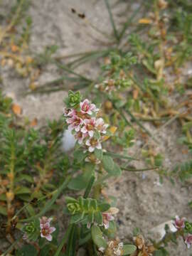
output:
M90 152L102 149L102 138L107 133L108 124L101 117L97 118L98 111L95 104L87 99L64 110L68 129L73 132L78 144L83 144Z

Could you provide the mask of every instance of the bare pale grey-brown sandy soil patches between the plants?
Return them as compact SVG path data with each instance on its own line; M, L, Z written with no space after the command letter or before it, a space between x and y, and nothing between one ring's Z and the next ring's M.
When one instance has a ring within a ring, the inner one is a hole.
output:
M4 0L1 2L0 11L8 13L14 1ZM122 11L126 10L128 2L122 1L121 4L116 5L117 1L110 0L118 26L124 21L124 16L121 14ZM132 4L127 16L130 16L137 6L136 2ZM84 13L86 18L80 19L71 12L71 8L76 9L78 13ZM107 35L112 35L109 15L102 0L33 0L28 9L28 15L33 19L29 45L32 56L42 53L46 46L53 44L58 46L55 56L107 47L109 42L107 36L97 32L95 28L90 26L90 23ZM99 63L85 64L77 69L79 73L90 78L96 78L98 70ZM21 93L28 90L28 78L20 78L13 68L7 66L1 67L0 75L4 93L11 95L14 102L22 107L23 116L27 116L31 120L37 117L38 125L41 126L46 123L46 119L58 119L62 114L63 97L67 92L23 96ZM36 82L43 85L59 76L55 66L49 64L43 68ZM151 132L156 129L149 124L148 128ZM164 155L166 169L185 161L189 157L186 154L181 154L182 149L185 148L177 143L179 134L181 134L179 125L174 122L160 130L157 137L159 144L152 142L156 152L161 152ZM128 153L134 154L139 151L140 146L137 145L140 144L137 143L136 146L129 149ZM135 163L137 168L143 165L143 161ZM140 228L146 235L156 225L171 220L175 215L191 219L188 201L191 199L189 195L192 193L192 186L183 186L179 181L172 185L166 178L161 185L159 184L159 176L154 171L148 171L144 174L124 172L122 178L116 181L114 186L110 186L107 193L117 196L119 238L124 240L131 237L134 227ZM179 242L178 250L173 249L172 253L171 255L178 256L190 255L182 242Z

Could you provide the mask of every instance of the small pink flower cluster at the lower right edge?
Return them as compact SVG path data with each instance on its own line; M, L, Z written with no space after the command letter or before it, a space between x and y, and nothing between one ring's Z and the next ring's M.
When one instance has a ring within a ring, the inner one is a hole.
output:
M183 230L183 240L186 243L188 249L192 245L192 225L186 221L186 218L179 218L176 215L174 220L174 226L177 230Z

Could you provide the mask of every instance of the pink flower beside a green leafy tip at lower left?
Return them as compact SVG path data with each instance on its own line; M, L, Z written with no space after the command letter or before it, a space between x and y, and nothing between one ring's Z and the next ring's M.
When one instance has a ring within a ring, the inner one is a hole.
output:
M43 216L40 219L40 228L41 228L41 238L46 238L46 240L51 241L52 240L52 234L56 228L55 227L50 227L50 221L52 218L47 218Z

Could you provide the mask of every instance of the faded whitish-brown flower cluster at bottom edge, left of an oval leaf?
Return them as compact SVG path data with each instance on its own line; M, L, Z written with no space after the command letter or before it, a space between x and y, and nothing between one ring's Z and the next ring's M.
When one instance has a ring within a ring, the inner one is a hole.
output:
M123 255L123 242L119 242L119 240L112 240L107 242L107 249L100 247L99 251L104 253L104 255L121 256Z

